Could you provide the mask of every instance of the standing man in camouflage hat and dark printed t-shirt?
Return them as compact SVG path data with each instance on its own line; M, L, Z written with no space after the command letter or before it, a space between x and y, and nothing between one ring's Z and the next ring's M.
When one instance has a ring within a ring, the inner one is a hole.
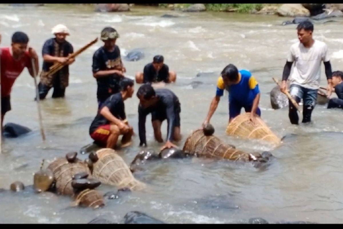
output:
M121 61L120 49L116 45L118 32L112 27L106 27L101 32L100 39L104 46L95 51L93 55L93 77L98 84L98 108L112 94L119 92L119 82L126 72Z

